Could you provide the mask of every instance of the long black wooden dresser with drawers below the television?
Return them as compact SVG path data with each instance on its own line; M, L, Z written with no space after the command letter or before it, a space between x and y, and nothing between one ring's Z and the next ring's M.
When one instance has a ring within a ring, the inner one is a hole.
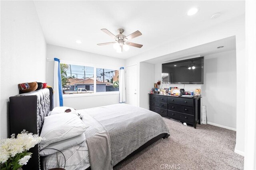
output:
M161 116L193 125L201 124L201 98L149 94L149 109Z

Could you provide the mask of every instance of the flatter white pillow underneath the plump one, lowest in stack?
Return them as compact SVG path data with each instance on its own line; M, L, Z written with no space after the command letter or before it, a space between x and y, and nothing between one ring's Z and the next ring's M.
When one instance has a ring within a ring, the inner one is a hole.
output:
M61 151L61 150L67 149L69 147L76 146L84 141L85 141L85 135L84 135L84 133L82 133L81 135L72 137L70 139L66 139L64 141L52 143L52 144L48 145L47 147L45 147L44 150L41 150L39 152L39 154L40 154L40 156L47 156L50 154L54 154L54 153L58 152L58 150ZM49 149L46 149L46 148L49 148ZM50 148L53 148L53 149L50 149ZM55 149L58 149L58 150L55 150Z

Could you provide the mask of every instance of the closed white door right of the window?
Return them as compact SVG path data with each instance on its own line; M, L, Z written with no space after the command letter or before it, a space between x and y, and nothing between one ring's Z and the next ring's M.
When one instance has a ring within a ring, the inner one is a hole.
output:
M137 98L137 65L128 66L125 70L126 77L126 104L138 106Z

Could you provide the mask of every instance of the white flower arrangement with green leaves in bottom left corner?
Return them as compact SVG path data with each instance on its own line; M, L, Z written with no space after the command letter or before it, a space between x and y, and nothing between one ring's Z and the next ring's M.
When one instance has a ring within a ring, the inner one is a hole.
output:
M44 140L42 137L28 133L26 130L16 138L15 134L12 134L11 138L0 139L1 170L17 170L26 165L32 154L27 151L42 140Z

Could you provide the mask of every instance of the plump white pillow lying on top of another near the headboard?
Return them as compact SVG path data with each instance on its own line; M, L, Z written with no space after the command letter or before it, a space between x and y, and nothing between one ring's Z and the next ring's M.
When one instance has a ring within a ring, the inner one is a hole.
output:
M44 125L40 137L45 140L40 142L40 149L51 143L70 139L81 135L88 128L75 114L56 114L44 117Z

